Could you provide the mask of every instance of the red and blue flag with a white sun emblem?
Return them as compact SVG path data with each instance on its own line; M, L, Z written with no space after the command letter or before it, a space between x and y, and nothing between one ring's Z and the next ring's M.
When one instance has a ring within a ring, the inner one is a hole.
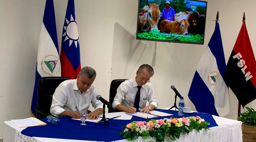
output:
M75 79L81 70L81 64L74 0L68 0L62 31L60 62L61 76Z

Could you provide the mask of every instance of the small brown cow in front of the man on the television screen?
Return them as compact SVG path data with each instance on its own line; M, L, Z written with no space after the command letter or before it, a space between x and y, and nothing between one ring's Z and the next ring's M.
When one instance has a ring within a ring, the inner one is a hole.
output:
M160 32L162 33L173 33L179 35L188 35L188 20L183 19L180 22L178 21L169 21L163 20L160 23Z

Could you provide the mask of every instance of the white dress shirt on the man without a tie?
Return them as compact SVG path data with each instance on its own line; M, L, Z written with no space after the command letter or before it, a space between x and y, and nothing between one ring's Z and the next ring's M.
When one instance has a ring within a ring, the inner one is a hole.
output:
M93 84L88 90L81 93L76 85L76 79L65 80L60 83L52 96L50 112L52 115L58 117L64 110L88 110L90 103L92 103L95 110L103 108L103 103L96 99L98 94Z

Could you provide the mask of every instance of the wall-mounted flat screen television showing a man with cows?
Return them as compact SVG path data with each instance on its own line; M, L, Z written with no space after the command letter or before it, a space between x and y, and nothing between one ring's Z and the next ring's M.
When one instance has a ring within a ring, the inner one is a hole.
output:
M204 44L206 9L206 1L139 0L136 39Z

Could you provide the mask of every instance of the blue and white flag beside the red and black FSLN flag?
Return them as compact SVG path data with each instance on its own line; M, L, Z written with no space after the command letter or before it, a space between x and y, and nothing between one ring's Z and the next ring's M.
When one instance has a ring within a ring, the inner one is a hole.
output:
M225 68L220 26L216 22L188 92L188 98L198 112L215 116L226 116L230 112L228 86L223 80Z

